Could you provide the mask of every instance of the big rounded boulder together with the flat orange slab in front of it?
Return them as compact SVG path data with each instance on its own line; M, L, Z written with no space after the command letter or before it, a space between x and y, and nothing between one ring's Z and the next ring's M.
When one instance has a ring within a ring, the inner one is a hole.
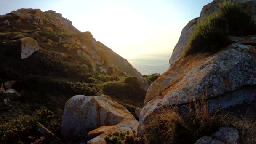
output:
M120 131L136 132L138 125L133 115L109 96L77 95L65 105L61 135L88 135L88 144L104 144L105 136Z

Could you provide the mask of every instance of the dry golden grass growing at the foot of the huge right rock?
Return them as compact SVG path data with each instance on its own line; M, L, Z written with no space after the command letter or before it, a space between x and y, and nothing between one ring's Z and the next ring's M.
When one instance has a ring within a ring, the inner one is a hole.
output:
M256 143L255 116L243 117L224 110L208 110L206 94L199 101L193 99L178 112L178 107L161 108L147 119L144 133L149 144L193 143L201 137L216 132L220 127L232 126L240 132L240 142ZM246 114L245 114L246 115Z

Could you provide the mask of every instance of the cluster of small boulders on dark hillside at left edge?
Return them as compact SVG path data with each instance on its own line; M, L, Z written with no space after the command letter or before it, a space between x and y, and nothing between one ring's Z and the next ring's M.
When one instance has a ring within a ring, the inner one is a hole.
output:
M11 106L11 101L21 99L21 94L13 89L14 83L16 83L15 80L10 80L0 86L0 100L5 106Z

